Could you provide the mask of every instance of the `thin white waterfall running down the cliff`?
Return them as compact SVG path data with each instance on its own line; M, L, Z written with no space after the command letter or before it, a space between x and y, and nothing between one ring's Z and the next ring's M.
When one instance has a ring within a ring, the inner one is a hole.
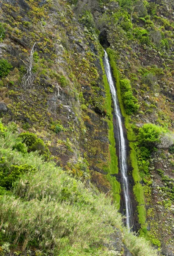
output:
M126 163L126 143L123 136L123 128L121 123L121 110L119 108L118 96L115 89L115 83L112 78L112 71L109 64L109 59L107 52L104 50L104 67L105 72L107 75L107 80L109 82L109 87L112 93L112 99L114 102L114 111L117 120L118 126L118 142L119 142L119 163L120 163L120 170L121 170L121 177L123 183L123 192L124 192L124 199L125 199L125 207L126 207L126 225L130 229L131 226L131 203L130 203L130 196L129 196L129 184L128 184L128 177L127 177L127 163Z

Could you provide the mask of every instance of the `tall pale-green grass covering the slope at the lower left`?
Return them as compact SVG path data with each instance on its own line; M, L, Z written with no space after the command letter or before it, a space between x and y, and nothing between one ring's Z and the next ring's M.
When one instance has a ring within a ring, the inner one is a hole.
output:
M55 163L44 162L37 152L12 150L19 139L11 125L0 137L0 157L5 157L8 166L28 164L37 170L24 174L10 193L0 196L1 245L8 242L14 250L39 249L40 255L107 256L111 254L104 244L114 227L122 231L133 255L157 256L145 239L123 227L111 198L85 188Z

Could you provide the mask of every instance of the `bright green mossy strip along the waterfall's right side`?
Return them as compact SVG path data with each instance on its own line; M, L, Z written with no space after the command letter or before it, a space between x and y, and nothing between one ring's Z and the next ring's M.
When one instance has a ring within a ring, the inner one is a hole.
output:
M120 79L119 79L119 73L115 64L115 60L113 58L112 55L112 50L111 49L107 49L107 54L109 56L110 59L110 64L112 67L112 72L113 75L115 77L115 81L116 81L116 87L117 87L117 95L118 95L118 101L120 104L120 108L121 108L121 113L124 117L124 124L126 127L126 131L127 131L127 138L129 140L129 146L131 148L130 151L130 159L131 159L131 164L132 164L132 177L134 179L134 187L133 187L133 192L135 195L135 199L138 202L138 219L139 219L139 223L141 224L141 228L143 230L144 227L146 227L146 209L144 207L145 202L144 202L144 193L143 193L143 186L141 185L140 181L140 174L139 174L139 170L138 170L138 163L137 163L137 157L136 157L136 151L135 151L135 147L134 147L134 141L136 139L135 134L132 130L131 124L129 122L130 117L126 114L126 111L124 109L123 106L123 101L121 98L121 88L120 88Z

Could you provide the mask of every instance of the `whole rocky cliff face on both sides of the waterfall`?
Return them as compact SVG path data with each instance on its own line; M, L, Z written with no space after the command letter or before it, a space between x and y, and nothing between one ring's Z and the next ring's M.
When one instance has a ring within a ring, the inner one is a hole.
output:
M86 186L91 181L99 191L112 191L119 202L112 102L101 45L110 48L119 79L129 79L138 100L139 109L128 117L135 134L131 141L137 141L145 123L173 132L173 12L171 0L0 0L0 58L8 61L1 63L8 72L0 73L2 122L16 122L20 133L36 133L65 172ZM146 202L143 236L172 256L171 145L157 145L145 158L140 145L135 148Z

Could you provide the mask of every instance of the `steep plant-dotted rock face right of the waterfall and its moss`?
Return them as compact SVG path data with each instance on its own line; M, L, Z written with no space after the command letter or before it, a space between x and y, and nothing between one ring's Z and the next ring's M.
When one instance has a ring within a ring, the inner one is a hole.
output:
M98 22L103 21L103 28L104 24L107 27L107 45L112 49L120 79L130 80L140 105L139 111L130 117L135 134L143 124L152 123L168 127L173 136L173 1L148 1L145 5L139 1L105 1L104 10ZM157 151L143 165L138 150L137 145L147 210L144 235L154 245L161 245L163 255L174 255L173 153L169 144L157 145Z

